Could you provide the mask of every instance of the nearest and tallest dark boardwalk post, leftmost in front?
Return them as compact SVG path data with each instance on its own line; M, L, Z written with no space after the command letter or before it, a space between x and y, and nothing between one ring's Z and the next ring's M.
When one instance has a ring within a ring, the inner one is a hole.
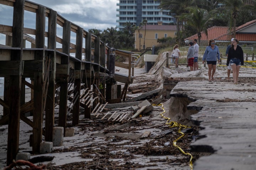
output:
M24 16L23 0L14 2L13 22L12 22L12 47L19 47L20 50L11 51L11 60L20 62L20 70L22 68L22 47L23 47L23 16ZM8 140L7 140L7 165L12 163L16 158L19 145L20 134L20 96L21 96L21 71L19 75L10 76L9 97L9 122L8 122Z

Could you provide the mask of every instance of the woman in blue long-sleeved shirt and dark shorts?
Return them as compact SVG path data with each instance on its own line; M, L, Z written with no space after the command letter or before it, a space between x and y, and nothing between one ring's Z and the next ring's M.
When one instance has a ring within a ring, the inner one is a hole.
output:
M204 55L203 55L203 64L206 61L207 65L208 65L209 81L214 80L213 75L216 71L217 58L218 58L218 63L219 63L220 62L219 47L217 45L215 45L214 40L210 40L209 46L206 47L206 51L204 51Z

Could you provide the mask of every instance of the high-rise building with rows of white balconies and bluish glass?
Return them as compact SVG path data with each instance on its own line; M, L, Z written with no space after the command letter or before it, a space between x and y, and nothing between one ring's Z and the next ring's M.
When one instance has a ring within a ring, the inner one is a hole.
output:
M174 23L174 17L170 15L170 11L161 10L159 8L160 0L119 0L117 6L117 28L122 30L126 22L139 26L143 20L148 25L168 25Z

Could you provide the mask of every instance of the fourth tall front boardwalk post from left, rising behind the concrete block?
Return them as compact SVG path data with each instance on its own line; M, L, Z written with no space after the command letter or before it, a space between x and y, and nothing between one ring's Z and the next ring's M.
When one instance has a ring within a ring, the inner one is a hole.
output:
M60 78L60 101L59 101L59 126L64 128L64 135L66 130L66 115L68 106L68 76L69 76L69 52L70 52L70 21L65 20L63 25L63 41L62 41L62 51L67 54L63 56L61 64L66 64L68 67L66 69L68 75L63 75Z

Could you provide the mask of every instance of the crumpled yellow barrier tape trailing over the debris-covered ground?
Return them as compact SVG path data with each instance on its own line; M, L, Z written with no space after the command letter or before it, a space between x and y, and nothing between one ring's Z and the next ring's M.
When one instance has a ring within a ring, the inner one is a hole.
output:
M164 105L163 105L162 103L160 103L160 104L158 104L158 105L152 104L152 106L162 106L163 112L160 113L160 115L161 115L163 118L167 119L166 124L168 125L169 128L176 128L176 127L179 128L179 129L178 129L178 133L180 133L181 136L178 137L176 140L173 141L173 146L175 146L175 147L177 147L178 149L180 149L180 151L181 151L183 154L185 154L185 155L190 155L190 164L189 164L189 166L190 166L190 169L193 170L193 163L192 163L193 156L192 156L190 153L188 153L188 152L185 153L185 152L181 149L181 147L179 147L179 146L176 145L177 141L180 140L183 136L185 136L185 134L184 134L183 132L181 132L181 128L187 129L187 128L191 128L191 127L190 127L190 126L182 125L182 124L177 123L177 122L175 122L175 121L170 121L171 118L165 117L165 116L163 115L163 114L165 113L165 109L164 109Z

